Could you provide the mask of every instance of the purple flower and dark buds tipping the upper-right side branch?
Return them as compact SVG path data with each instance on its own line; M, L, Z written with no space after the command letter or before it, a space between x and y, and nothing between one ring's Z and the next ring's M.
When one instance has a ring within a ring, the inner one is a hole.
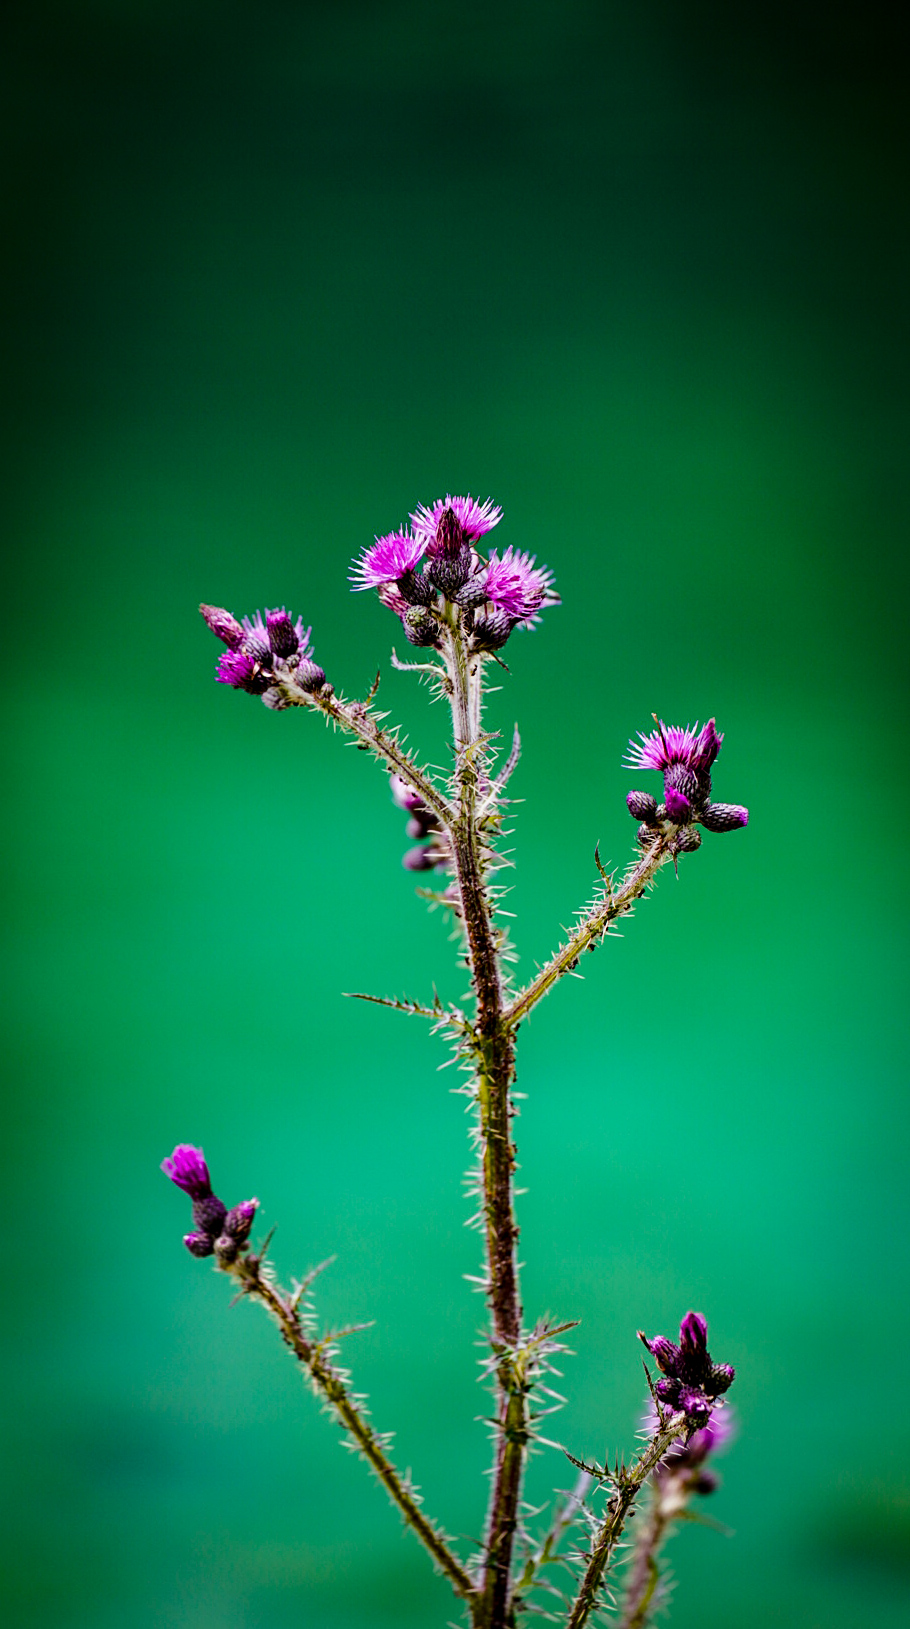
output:
M711 803L711 766L721 749L723 735L713 718L703 730L682 728L658 720L651 735L628 743L628 769L656 769L664 777L664 801L650 792L630 792L628 813L641 821L638 842L648 849L656 836L672 836L674 854L697 849L705 831L736 831L749 824L749 810L739 803Z

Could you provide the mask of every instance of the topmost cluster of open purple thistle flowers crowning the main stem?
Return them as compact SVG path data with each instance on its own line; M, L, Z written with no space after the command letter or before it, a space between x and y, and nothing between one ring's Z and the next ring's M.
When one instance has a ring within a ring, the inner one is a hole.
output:
M560 603L553 573L532 554L510 547L483 559L477 551L501 518L490 498L479 503L449 494L430 507L420 503L410 528L376 538L355 560L353 588L376 588L412 645L438 647L440 619L454 604L474 650L501 650L513 629L532 627L542 609Z

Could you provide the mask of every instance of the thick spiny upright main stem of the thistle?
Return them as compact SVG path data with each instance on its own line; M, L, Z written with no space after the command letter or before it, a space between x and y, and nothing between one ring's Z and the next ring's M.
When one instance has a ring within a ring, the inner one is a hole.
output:
M457 624L449 632L446 656L456 744L456 818L449 836L477 997L474 1028L483 1161L487 1295L490 1339L500 1359L493 1481L474 1622L477 1629L505 1629L510 1622L511 1557L527 1448L527 1378L524 1365L516 1362L516 1347L521 1341L521 1295L513 1202L514 1150L510 1132L514 1039L511 1025L505 1018L500 956L477 829L480 656L469 653Z

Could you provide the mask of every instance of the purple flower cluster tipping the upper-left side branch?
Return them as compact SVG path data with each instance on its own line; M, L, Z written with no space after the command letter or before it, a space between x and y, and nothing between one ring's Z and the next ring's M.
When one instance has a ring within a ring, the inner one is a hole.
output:
M275 712L291 705L288 687L308 692L322 689L326 674L313 661L311 629L303 626L303 617L295 622L280 606L267 611L265 617L257 611L238 622L221 606L199 609L212 632L228 647L218 658L218 684L260 696Z

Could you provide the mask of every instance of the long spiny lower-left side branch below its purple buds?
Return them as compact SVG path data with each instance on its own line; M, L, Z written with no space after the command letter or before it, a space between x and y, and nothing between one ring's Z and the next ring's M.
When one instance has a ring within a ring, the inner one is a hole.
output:
M352 1442L383 1482L392 1504L399 1507L405 1525L413 1528L438 1569L446 1574L454 1593L462 1600L469 1600L475 1593L472 1579L453 1554L443 1535L427 1520L413 1491L400 1479L383 1447L383 1438L373 1430L347 1390L342 1375L334 1368L326 1350L326 1342L308 1337L298 1313L298 1298L283 1295L262 1274L259 1256L239 1256L234 1262L225 1266L223 1271L239 1280L241 1295L260 1302L272 1313L282 1331L285 1346L291 1349L293 1355L304 1367L314 1391L321 1393L330 1409L334 1409Z

